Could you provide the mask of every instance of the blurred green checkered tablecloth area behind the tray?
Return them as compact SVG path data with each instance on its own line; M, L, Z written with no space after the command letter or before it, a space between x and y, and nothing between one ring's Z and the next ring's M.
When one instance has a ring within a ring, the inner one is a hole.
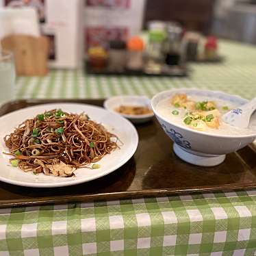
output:
M118 77L84 75L83 71L51 71L47 77L19 77L16 97L105 98L116 94L153 94L170 88L222 90L251 99L256 94L256 47L220 42L222 64L191 64L189 77Z

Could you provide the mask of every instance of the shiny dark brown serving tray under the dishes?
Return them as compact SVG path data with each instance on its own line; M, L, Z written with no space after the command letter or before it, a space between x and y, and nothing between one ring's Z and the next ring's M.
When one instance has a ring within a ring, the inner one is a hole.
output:
M103 100L21 100L6 103L0 116L42 103L73 102L102 106ZM110 175L63 188L22 188L0 182L0 207L166 196L256 187L256 149L246 146L215 167L187 164L172 151L172 142L154 119L136 125L140 142L133 157ZM1 170L0 170L1 171Z

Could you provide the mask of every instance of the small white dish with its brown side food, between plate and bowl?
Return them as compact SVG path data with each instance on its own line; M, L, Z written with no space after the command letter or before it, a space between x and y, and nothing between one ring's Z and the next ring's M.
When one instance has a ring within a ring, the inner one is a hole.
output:
M116 112L132 123L145 123L153 118L151 101L144 96L116 96L104 102L105 109Z

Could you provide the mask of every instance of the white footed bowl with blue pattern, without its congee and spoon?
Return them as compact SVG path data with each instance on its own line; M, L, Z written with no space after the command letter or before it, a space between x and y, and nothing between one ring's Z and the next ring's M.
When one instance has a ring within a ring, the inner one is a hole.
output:
M237 136L196 131L183 125L172 123L172 121L157 112L156 106L159 101L171 99L175 94L181 93L199 95L206 98L214 97L233 102L236 105L243 105L247 100L224 92L188 88L167 90L156 94L151 100L153 112L168 137L175 142L173 150L176 155L185 162L198 166L216 166L225 160L225 154L238 151L238 149L242 149L255 140L256 132L253 131L250 134ZM253 118L255 118L255 115Z

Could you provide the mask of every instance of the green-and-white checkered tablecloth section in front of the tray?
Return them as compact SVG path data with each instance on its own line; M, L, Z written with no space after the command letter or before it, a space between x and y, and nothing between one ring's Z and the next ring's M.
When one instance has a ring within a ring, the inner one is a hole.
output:
M0 255L256 255L256 190L0 210Z

